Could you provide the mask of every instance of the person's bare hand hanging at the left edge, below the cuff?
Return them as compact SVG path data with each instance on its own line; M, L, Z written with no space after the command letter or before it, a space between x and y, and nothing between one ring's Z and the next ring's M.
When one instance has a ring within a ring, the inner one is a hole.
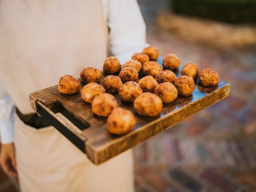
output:
M15 146L13 143L1 145L0 163L4 169L4 172L10 176L18 177Z

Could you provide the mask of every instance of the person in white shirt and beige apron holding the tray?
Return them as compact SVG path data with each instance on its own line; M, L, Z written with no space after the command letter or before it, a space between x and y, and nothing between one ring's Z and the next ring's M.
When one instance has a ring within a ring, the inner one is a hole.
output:
M0 1L0 162L22 191L134 190L131 150L96 166L54 127L25 121L40 118L31 92L102 70L108 44L121 63L148 46L136 0Z

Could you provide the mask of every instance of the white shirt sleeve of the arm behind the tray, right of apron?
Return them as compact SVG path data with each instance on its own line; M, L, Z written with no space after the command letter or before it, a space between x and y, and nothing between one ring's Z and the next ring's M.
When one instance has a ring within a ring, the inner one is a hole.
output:
M136 0L108 0L108 27L111 52L121 64L148 46L146 25Z

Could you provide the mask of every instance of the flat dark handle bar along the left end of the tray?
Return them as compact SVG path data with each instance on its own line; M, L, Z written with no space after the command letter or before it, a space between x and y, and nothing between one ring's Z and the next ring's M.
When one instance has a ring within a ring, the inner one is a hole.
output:
M72 128L72 126L70 126L64 119L57 116L40 101L36 101L36 111L42 117L44 117L49 124L54 126L54 128L68 138L68 140L70 140L76 147L78 147L82 152L86 153L86 138L81 134L81 130L75 130Z

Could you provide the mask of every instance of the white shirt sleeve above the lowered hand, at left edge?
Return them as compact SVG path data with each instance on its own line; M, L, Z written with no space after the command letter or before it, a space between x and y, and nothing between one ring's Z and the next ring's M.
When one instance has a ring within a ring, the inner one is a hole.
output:
M14 103L0 82L0 139L2 144L14 142Z

